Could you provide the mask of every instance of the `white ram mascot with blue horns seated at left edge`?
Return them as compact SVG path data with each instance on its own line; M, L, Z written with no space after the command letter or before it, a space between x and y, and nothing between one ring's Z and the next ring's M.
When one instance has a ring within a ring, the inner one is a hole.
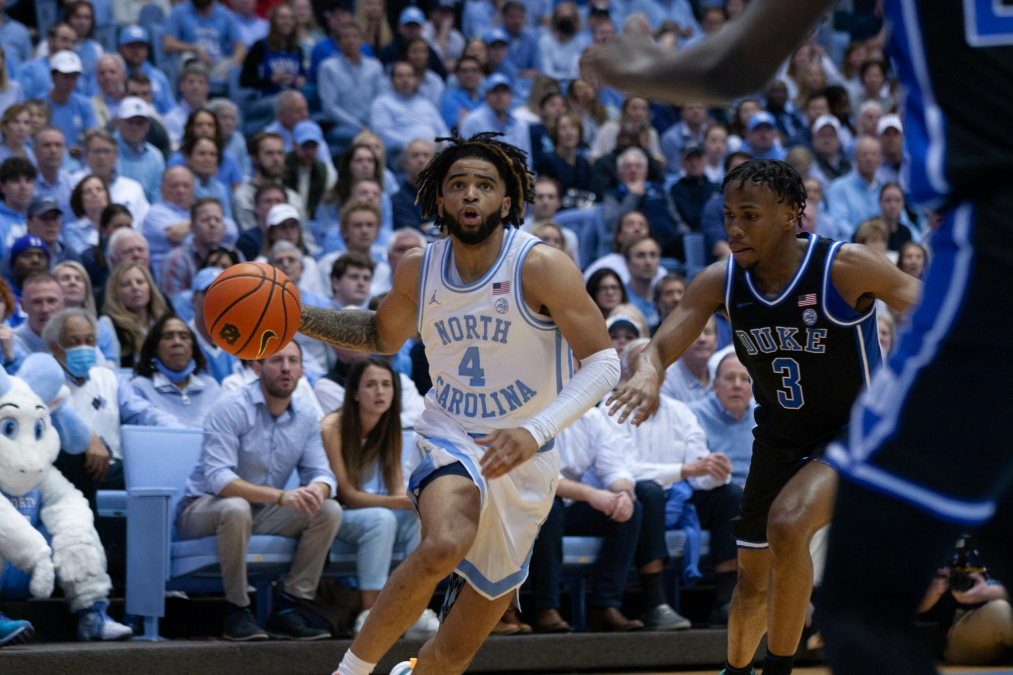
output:
M77 413L61 405L68 394L63 368L47 354L30 355L16 377L0 369L0 599L48 598L59 581L79 616L78 639L118 640L132 631L105 611L112 584L91 509L53 466L61 445L80 453L91 437ZM31 632L26 621L0 613L0 645Z

